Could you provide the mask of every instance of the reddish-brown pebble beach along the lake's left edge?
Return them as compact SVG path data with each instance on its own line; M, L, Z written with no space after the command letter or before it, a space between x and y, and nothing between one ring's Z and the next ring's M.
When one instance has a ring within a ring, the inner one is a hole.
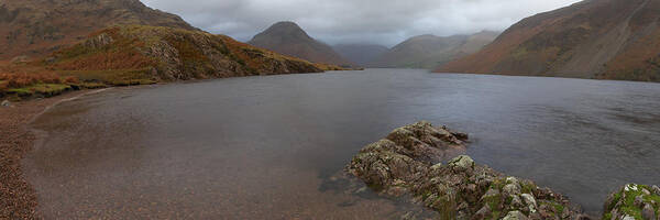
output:
M36 210L36 191L26 182L21 166L23 157L37 141L37 135L29 124L59 103L105 90L78 90L0 107L0 219L41 218Z

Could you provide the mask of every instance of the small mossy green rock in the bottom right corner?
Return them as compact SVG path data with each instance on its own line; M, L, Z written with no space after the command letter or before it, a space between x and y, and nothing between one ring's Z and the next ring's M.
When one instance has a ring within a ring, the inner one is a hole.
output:
M610 194L605 204L603 219L658 220L660 194L652 186L628 184Z

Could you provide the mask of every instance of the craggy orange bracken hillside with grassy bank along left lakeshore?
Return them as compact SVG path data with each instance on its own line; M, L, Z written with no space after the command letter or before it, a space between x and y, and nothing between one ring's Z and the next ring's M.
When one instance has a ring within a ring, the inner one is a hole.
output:
M0 97L20 98L106 86L340 70L224 35L144 25L108 28L46 58L0 64Z

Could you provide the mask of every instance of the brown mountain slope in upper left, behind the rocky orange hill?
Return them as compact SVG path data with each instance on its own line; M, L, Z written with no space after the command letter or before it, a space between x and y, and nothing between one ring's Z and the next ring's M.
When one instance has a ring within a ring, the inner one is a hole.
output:
M0 59L42 56L116 24L196 30L179 16L139 0L0 1Z

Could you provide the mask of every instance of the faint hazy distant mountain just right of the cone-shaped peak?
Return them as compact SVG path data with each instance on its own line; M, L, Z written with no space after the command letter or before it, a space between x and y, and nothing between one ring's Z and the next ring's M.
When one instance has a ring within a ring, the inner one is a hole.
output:
M376 57L389 50L377 44L338 44L332 48L351 63L363 67L370 66Z

